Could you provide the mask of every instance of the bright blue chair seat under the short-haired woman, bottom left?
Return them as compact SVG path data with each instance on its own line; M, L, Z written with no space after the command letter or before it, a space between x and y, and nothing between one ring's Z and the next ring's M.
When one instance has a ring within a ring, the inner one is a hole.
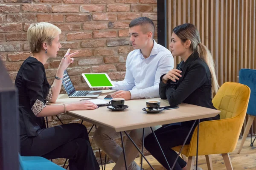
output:
M20 170L65 170L57 164L40 156L20 156Z

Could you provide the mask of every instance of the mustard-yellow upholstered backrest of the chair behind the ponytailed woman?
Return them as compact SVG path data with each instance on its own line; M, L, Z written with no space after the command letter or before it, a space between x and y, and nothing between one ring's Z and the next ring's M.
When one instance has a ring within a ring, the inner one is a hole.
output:
M250 97L250 88L236 82L225 82L221 85L212 103L215 108L221 111L221 119L241 116L244 121L247 111L247 102Z

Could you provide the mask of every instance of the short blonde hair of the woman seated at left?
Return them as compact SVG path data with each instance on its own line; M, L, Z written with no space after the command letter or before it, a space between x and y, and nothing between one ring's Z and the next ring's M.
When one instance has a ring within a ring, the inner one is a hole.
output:
M46 42L52 45L53 39L61 34L61 29L50 23L33 23L29 26L27 39L31 52L39 53L42 50L42 45Z

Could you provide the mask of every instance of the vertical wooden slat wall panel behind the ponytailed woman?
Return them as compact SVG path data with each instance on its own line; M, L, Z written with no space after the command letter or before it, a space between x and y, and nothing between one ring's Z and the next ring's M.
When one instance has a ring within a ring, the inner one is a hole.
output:
M215 60L219 85L238 82L241 68L256 69L255 22L256 0L168 0L168 44L175 26L194 24Z

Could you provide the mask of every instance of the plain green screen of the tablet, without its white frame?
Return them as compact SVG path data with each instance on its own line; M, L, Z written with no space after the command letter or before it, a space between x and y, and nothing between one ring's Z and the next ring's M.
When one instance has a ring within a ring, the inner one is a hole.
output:
M84 74L87 80L90 82L90 85L93 87L106 87L112 86L108 77L105 74Z

